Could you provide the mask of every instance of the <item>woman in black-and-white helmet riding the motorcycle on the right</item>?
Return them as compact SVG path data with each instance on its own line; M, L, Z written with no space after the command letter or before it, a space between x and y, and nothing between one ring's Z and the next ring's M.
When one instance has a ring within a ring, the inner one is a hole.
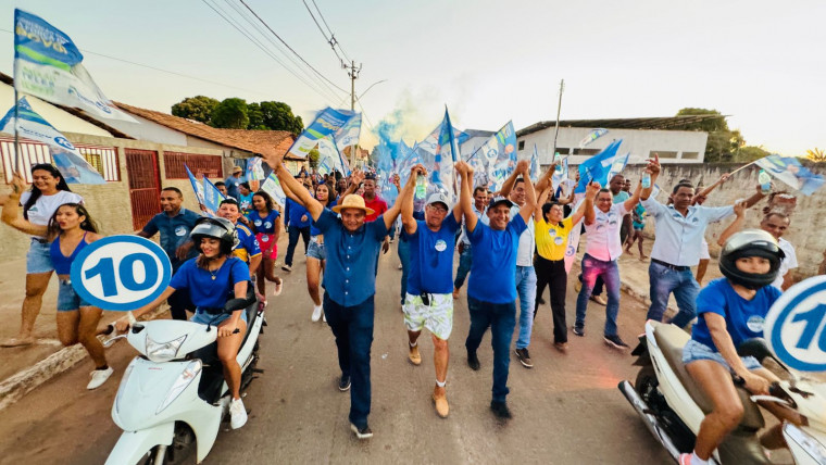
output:
M692 454L680 455L680 465L705 464L726 435L739 425L743 406L734 379L752 394L768 394L771 382L778 378L752 356L740 357L737 347L763 337L768 309L780 297L769 286L777 276L784 253L766 231L748 229L737 232L723 247L715 279L697 298L698 322L691 340L683 349L683 362L689 375L711 399L713 410L700 424ZM774 403L761 403L774 415L799 424L792 412ZM761 437L767 449L785 445L783 425Z

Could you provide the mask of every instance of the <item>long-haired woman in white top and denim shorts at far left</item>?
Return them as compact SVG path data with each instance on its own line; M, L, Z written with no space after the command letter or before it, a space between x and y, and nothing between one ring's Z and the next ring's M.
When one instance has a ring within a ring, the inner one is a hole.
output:
M13 203L11 206L15 209L15 212L16 206L22 204L22 219L35 226L48 226L58 206L84 201L83 197L68 189L58 168L49 163L32 166L32 189L24 192L25 181L16 174L12 181L12 193L0 199L0 203ZM32 331L35 328L37 315L40 313L43 293L54 272L49 260L50 239L45 234L24 232L32 236L28 253L26 253L26 297L23 299L20 330L15 337L0 342L0 347L4 348L29 345L35 342Z

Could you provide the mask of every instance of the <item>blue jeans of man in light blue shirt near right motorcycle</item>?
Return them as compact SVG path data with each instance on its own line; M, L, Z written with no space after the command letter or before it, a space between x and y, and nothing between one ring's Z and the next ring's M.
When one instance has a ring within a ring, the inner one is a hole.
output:
M661 322L668 306L668 296L674 292L679 313L674 315L671 323L680 328L688 325L697 316L697 294L700 285L697 284L691 269L677 272L659 263L651 262L648 267L648 279L651 286L651 306L647 319Z

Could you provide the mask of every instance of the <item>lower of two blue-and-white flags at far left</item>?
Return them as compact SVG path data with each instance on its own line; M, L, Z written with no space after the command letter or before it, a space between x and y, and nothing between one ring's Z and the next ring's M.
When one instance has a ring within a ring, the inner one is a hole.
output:
M0 131L14 134L16 126L20 137L32 139L49 146L54 165L66 183L105 184L103 176L84 159L80 152L58 129L32 109L25 97L17 101L17 117L14 106L0 120ZM27 169L16 166L17 171Z

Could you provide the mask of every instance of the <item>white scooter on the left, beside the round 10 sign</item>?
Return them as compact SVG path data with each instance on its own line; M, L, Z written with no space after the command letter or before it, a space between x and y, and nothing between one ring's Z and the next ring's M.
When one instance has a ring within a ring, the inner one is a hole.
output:
M251 296L225 306L225 312L243 309L248 317L237 359L241 390L261 373L258 339L266 325L254 291ZM217 359L217 328L162 319L137 323L112 340L124 337L141 355L124 372L112 405L112 419L124 432L107 464L168 464L187 456L193 442L200 463L215 443L231 397Z

